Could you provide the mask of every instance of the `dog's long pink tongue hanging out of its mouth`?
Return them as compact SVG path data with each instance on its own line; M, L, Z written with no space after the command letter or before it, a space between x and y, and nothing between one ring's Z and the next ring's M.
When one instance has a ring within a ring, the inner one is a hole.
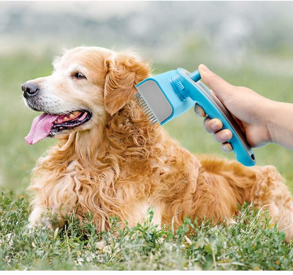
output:
M52 127L53 122L56 120L58 115L50 115L47 113L43 113L34 118L32 127L30 128L30 132L24 138L25 141L33 145L37 143L39 140L44 139L50 133L50 129Z

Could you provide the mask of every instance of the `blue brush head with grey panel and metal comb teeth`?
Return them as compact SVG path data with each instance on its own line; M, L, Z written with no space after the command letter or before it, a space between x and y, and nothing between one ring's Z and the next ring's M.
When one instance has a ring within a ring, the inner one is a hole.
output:
M183 98L178 92L180 83L173 83L172 77L177 74L176 70L171 70L144 79L136 85L139 92L134 99L151 123L159 122L162 125L194 106L195 101Z

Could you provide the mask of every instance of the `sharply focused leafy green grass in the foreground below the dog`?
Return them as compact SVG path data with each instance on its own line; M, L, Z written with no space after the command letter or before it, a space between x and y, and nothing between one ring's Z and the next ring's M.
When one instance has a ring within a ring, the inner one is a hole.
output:
M27 229L24 198L0 196L0 269L98 270L292 270L293 244L270 221L268 212L244 204L230 225L198 227L186 218L176 231L150 222L96 232L91 216L79 223L74 214L63 229L39 226ZM54 221L54 217L48 217ZM189 229L191 234L186 237ZM97 245L104 242L104 247Z

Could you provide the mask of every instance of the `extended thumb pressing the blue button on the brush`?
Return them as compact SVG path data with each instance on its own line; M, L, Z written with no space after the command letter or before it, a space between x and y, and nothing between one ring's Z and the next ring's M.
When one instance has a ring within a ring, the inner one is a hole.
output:
M205 82L220 98L225 100L233 90L233 85L226 82L224 79L213 73L206 65L198 66L202 81Z

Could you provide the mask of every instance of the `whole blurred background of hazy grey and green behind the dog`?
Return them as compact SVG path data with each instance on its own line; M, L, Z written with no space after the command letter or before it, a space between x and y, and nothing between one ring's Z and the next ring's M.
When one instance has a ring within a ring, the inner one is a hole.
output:
M62 47L132 47L152 60L155 73L205 63L231 84L293 102L292 14L293 2L281 1L2 1L0 188L24 193L36 160L56 142L25 142L38 114L25 107L21 84L50 75ZM193 110L164 127L193 153L234 159ZM293 191L293 152L274 144L254 152L257 164L275 165Z

